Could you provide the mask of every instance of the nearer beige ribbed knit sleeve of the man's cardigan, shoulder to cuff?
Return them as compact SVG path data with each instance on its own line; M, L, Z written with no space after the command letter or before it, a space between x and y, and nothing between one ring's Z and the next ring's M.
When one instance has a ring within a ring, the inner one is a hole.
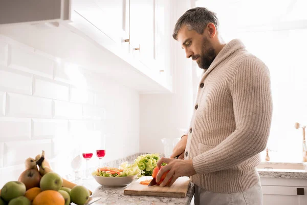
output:
M255 57L243 59L234 71L232 96L236 129L215 148L193 158L198 174L229 169L266 148L272 119L270 74Z

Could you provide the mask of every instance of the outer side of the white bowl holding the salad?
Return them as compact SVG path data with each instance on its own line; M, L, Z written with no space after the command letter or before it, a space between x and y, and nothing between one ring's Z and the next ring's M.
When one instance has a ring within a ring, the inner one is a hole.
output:
M137 175L124 177L104 177L93 175L93 177L100 185L119 187L129 185L129 183L131 183L137 177Z

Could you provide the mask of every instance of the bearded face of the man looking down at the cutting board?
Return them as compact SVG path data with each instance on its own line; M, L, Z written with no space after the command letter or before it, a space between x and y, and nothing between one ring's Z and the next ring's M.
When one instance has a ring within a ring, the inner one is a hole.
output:
M214 60L215 50L206 37L206 32L199 34L195 30L189 30L187 26L178 32L178 41L185 50L186 57L195 60L202 69L208 69Z

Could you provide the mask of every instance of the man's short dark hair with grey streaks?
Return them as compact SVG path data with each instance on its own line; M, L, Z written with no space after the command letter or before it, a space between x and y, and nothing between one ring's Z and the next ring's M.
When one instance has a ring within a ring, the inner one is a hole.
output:
M178 40L178 31L183 26L187 26L189 30L195 30L199 34L203 34L204 29L209 23L213 23L218 28L219 23L214 12L204 7L189 9L178 19L172 36L175 40Z

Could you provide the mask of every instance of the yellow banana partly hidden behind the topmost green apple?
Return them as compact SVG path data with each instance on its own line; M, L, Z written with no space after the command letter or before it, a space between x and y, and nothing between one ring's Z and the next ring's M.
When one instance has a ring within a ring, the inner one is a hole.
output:
M49 172L53 172L52 169L50 168L49 163L46 162L45 151L42 151L42 153L37 155L35 157L35 159L36 159L36 163L39 167L39 173L40 173L41 176L43 176L43 175L45 175ZM62 187L67 187L67 188L72 189L73 187L77 186L75 183L68 181L64 178L62 178L62 180L63 180ZM90 195L92 195L92 191L89 190L89 192L90 192Z

